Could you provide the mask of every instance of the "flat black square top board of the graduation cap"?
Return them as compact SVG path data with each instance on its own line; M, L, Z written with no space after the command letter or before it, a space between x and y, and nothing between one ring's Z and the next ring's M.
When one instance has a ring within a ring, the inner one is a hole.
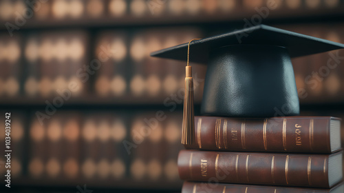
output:
M192 41L190 43L190 50L193 54L190 54L189 60L195 63L207 63L208 54L214 48L244 44L279 45L288 48L288 54L291 58L344 48L342 43L310 37L271 26L259 25ZM151 57L186 61L187 50L188 43L183 43L152 52Z

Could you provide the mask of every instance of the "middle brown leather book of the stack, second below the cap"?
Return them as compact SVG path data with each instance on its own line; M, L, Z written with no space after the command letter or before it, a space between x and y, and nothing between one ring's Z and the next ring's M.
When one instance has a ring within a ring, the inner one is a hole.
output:
M343 178L342 156L182 150L178 170L185 181L330 188Z

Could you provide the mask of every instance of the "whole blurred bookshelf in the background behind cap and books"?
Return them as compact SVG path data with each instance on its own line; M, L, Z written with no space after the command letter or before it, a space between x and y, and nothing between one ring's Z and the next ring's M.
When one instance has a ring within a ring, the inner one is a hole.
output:
M0 1L0 108L12 112L12 174L22 190L180 190L185 63L150 52L243 28L243 19L259 15L278 28L344 43L343 0L32 2ZM16 12L28 18L10 37L5 24L17 22ZM343 60L327 66L336 54L344 56L340 50L292 59L301 115L344 118ZM198 112L206 65L193 66ZM36 112L48 106L56 113L41 125ZM128 154L122 142L132 142L160 110L166 119Z

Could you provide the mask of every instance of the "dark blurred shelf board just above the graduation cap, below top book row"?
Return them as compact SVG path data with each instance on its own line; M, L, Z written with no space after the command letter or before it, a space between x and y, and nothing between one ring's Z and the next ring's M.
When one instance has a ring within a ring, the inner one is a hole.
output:
M310 9L277 9L270 10L268 16L264 18L264 21L269 21L273 19L309 19L314 17L319 17L321 20L330 18L331 21L333 18L338 19L338 17L344 16L343 5L336 8L318 8L314 10ZM292 14L290 14L292 12ZM23 26L20 26L19 30L22 29L43 29L43 28L103 28L103 27L122 27L122 26L149 26L149 25L173 25L173 24L187 24L187 23L213 23L213 22L222 22L222 21L237 21L243 22L243 19L246 18L248 21L251 20L253 15L258 15L259 13L255 10L240 10L236 9L230 14L225 12L217 12L215 14L202 14L191 15L191 14L146 14L141 17L136 17L133 15L124 15L122 17L109 17L103 16L99 18L90 18L83 17L82 19L36 19L31 18L26 21ZM4 21L2 21L4 22ZM8 21L10 23L15 23L14 20ZM5 22L4 22L5 23ZM0 26L0 30L7 30L5 25ZM16 32L17 30L14 30Z

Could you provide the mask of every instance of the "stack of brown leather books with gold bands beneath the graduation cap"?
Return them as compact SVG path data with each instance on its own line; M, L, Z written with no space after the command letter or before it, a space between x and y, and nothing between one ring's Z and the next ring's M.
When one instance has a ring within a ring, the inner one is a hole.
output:
M341 119L195 116L182 192L344 192Z

